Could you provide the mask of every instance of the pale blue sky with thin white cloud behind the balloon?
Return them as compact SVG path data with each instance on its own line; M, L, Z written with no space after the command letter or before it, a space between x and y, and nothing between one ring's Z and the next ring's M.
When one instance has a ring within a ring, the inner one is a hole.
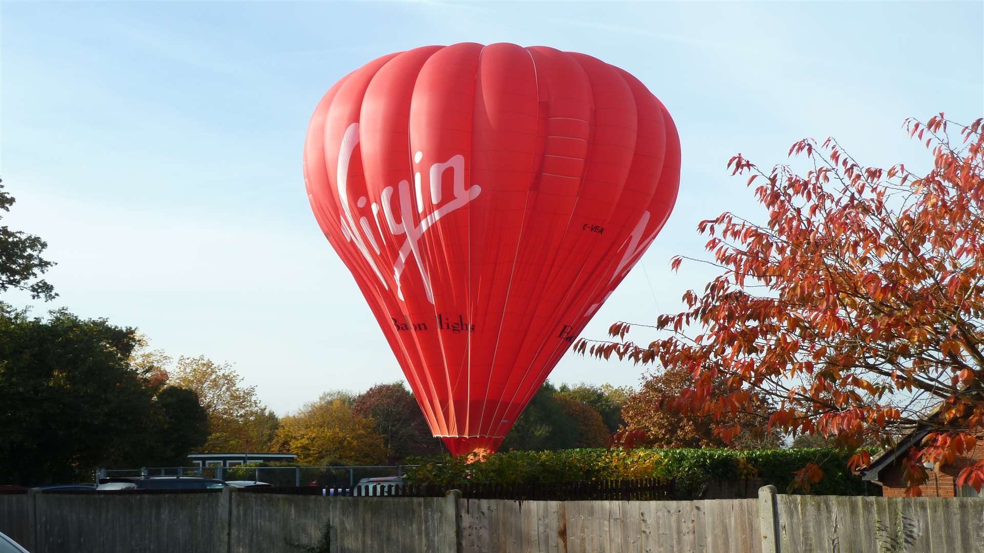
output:
M235 363L277 412L401 379L311 215L308 119L340 77L423 44L576 50L639 77L673 115L680 198L584 332L646 323L712 276L695 227L763 219L742 153L770 166L805 136L870 165L917 165L905 117L984 114L984 3L0 3L4 222L39 234L61 296L172 355ZM31 304L8 294L6 301ZM634 337L645 340L639 332ZM568 355L554 382L635 384Z

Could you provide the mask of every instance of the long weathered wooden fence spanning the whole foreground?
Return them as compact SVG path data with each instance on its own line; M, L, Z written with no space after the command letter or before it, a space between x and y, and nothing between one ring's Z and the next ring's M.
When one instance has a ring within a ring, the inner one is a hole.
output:
M984 499L517 501L243 493L0 495L31 553L984 553Z

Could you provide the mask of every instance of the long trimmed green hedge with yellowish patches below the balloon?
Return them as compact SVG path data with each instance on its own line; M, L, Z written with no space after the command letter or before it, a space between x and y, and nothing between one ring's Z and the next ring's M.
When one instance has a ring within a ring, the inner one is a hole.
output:
M835 449L735 451L726 449L564 450L558 452L508 452L486 461L464 457L432 457L412 460L419 466L406 469L414 483L463 482L571 482L623 478L660 478L675 483L679 499L699 497L708 481L761 477L780 493L792 489L793 471L816 462L824 478L811 485L817 495L862 495L864 483L847 469L850 453ZM868 486L868 495L880 490Z

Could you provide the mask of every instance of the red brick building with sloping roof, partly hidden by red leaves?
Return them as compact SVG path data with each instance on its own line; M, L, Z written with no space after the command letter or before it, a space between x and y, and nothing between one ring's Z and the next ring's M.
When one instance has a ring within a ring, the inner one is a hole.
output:
M922 444L929 432L925 429L916 430L906 436L892 450L874 458L871 468L866 470L861 478L882 486L882 495L885 497L905 495L905 481L902 480L905 467L902 465L902 460L908 456L909 450ZM984 493L978 493L970 486L956 485L956 476L960 473L960 469L982 459L984 459L984 436L978 436L977 446L973 451L956 458L953 463L941 466L939 471L929 470L929 479L921 486L923 497L984 497ZM984 489L981 491L984 492Z

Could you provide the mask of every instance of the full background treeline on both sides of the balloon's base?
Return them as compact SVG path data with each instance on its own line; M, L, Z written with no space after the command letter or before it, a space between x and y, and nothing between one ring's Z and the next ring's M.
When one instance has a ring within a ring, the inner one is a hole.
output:
M14 198L0 184L0 210ZM37 236L0 227L0 292L57 297L41 276L53 266ZM714 447L706 417L668 415L660 401L679 395L687 375L649 375L640 390L545 383L501 451ZM778 438L764 418L733 448L768 448ZM88 479L99 466L187 464L189 453L294 453L309 465L398 463L443 453L402 384L361 394L326 392L284 416L227 363L173 358L131 327L84 319L66 309L33 316L0 301L0 483ZM755 434L755 433L753 433ZM823 444L812 444L823 445Z

